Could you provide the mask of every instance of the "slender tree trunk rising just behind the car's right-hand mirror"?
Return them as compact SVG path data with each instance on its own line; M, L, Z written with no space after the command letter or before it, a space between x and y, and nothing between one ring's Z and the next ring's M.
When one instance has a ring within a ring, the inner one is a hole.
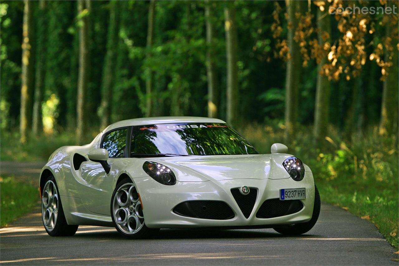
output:
M300 13L301 5L306 4L305 1L292 1L287 0L288 8L288 48L290 58L287 62L286 69L286 84L285 84L285 140L289 141L290 136L295 131L296 118L298 115L298 96L299 96L299 83L300 72L302 68L300 47L294 40L295 31L298 28L299 18L296 17Z

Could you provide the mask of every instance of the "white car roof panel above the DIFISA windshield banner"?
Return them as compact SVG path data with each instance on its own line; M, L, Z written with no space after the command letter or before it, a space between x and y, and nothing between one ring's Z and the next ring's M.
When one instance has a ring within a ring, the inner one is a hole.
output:
M128 127L136 125L154 125L168 123L226 123L223 120L209 117L196 116L163 116L163 117L143 117L128 120L122 120L109 125L103 132L110 131L119 127Z

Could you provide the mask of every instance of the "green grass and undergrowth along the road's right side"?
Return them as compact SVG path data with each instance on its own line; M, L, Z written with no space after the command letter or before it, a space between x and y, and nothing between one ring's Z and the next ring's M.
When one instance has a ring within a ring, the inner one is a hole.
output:
M241 130L260 153L284 143L283 126L251 125ZM312 127L300 128L286 143L288 153L312 169L323 201L341 206L373 222L398 249L398 149L394 137L381 137L377 128L345 141L330 127L321 147L314 146Z

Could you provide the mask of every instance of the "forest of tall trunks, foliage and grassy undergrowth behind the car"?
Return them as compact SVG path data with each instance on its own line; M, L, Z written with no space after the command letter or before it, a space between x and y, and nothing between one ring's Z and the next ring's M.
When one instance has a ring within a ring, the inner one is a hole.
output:
M397 248L398 6L2 0L1 160L46 161L123 119L217 117L261 153L286 144L322 200Z

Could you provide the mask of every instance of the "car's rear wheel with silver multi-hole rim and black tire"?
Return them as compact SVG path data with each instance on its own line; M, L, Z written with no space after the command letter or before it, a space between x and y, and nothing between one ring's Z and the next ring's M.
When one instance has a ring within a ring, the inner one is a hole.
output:
M55 178L47 177L41 188L41 218L50 236L73 236L79 225L68 225Z

